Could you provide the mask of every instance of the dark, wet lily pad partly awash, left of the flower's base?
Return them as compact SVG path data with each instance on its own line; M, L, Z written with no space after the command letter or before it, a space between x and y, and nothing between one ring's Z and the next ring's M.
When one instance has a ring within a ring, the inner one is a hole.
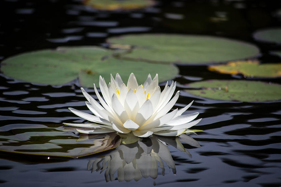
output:
M1 133L0 151L78 158L116 148L121 143L116 133L103 134L102 137L80 135L78 139L77 135L64 132L63 127L29 127L14 129L12 132Z

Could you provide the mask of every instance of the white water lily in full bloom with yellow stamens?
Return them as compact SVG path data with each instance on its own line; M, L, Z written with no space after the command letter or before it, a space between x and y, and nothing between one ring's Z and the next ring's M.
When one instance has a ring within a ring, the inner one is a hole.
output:
M111 75L111 82L108 86L100 76L99 85L104 100L95 84L94 89L101 104L81 88L88 100L86 105L94 115L69 108L72 113L90 122L95 122L95 124L64 123L65 125L92 128L92 130L77 129L78 132L84 134L116 131L122 134L132 132L137 137L149 137L152 134L179 136L202 119L191 122L198 116L198 112L182 115L193 101L184 108L169 112L179 98L179 91L171 99L176 83L173 82L168 86L167 82L161 92L157 74L153 80L149 74L145 83L141 85L138 85L133 73L131 73L127 85L123 83L119 74L116 74L115 79Z

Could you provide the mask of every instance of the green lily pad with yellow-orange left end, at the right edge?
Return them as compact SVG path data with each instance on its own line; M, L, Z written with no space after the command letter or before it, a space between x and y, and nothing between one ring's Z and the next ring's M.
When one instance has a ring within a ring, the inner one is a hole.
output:
M226 65L209 66L210 71L224 74L243 74L247 77L280 77L281 63L260 64L259 61L236 61L228 62Z

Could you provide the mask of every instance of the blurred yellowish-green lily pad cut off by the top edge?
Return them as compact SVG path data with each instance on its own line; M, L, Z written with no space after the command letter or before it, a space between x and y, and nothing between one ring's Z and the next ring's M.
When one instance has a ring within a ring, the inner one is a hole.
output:
M86 0L84 4L100 10L124 10L149 7L155 2L152 0Z

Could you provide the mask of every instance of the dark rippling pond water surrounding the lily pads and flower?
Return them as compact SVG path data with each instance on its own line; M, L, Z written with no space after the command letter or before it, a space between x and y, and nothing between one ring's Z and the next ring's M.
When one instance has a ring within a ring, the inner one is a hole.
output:
M259 43L252 38L252 33L260 28L280 25L278 1L159 1L154 7L116 12L86 8L76 0L3 0L0 7L1 59L57 46L104 46L109 36L161 32L248 41L259 46L262 62L280 62L279 57L269 54L272 49L280 50L280 46ZM214 22L210 22L210 18ZM179 83L177 90L197 80L237 79L209 72L205 66L179 68L180 74L175 78ZM86 110L85 98L75 81L54 87L3 75L0 79L2 135L37 132L40 128L59 129L63 128L62 122L84 122L67 109ZM263 81L281 82L280 79ZM94 93L93 89L87 91ZM113 181L106 182L106 171L96 172L95 168L91 172L93 162L104 158L102 156L113 157L116 150L78 159L48 159L47 156L0 152L1 186L281 186L280 102L216 101L181 91L174 108L185 106L192 100L195 102L189 112L200 113L199 117L203 119L196 129L203 131L190 136L201 147L184 144L191 157L168 146L176 175L164 162L165 171L159 166L156 179L149 177L155 175L149 171L138 182L119 182L122 176L117 176L116 172ZM71 132L66 133L78 138ZM131 152L136 149L139 148L131 147ZM144 157L141 163L145 166Z

